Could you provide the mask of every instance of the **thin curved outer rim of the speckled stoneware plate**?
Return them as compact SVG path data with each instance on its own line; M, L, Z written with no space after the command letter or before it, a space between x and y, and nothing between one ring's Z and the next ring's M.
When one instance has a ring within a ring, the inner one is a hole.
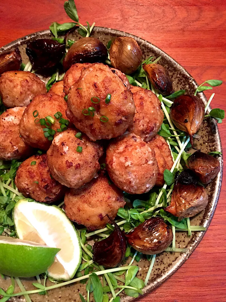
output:
M87 27L87 26L85 26ZM94 32L99 32L99 33L108 33L108 34L117 34L117 35L121 35L124 37L131 37L134 38L135 40L139 41L140 43L145 42L146 44L148 44L150 46L150 48L158 53L160 53L160 55L164 55L164 57L169 60L172 64L176 64L176 67L180 69L180 71L185 74L192 82L191 84L194 86L194 88L196 89L198 87L197 82L195 81L195 79L190 75L189 72L187 72L187 70L181 66L175 59L173 59L171 56L169 56L167 53L165 53L163 50L161 50L159 47L157 47L156 45L152 44L151 42L140 38L138 36L135 36L133 34L129 34L127 32L124 31L120 31L120 30L116 30L116 29L112 29L112 28L108 28L108 27L99 27L99 26L95 26L93 29ZM7 52L7 50L11 47L17 47L21 44L21 42L26 42L26 40L30 40L32 38L36 38L37 36L44 36L44 35L50 35L52 36L52 33L49 29L47 30L43 30L43 31L37 31L35 33L26 35L24 37L21 37L17 40L14 40L10 43L8 43L5 46L0 47L0 54ZM199 97L202 99L203 103L206 105L207 103L207 98L204 95L203 92L201 92L199 94ZM211 110L211 106L208 107L207 112L209 112ZM215 124L215 128L216 128L216 133L215 133L215 137L217 139L217 146L219 146L219 149L222 153L222 144L221 144L221 138L220 138L220 133L219 133L219 129L218 129L218 125L217 122L214 120L213 123ZM220 173L218 174L218 176L216 177L216 186L217 188L215 188L214 191L214 196L213 196L213 204L211 209L209 209L209 213L208 213L208 217L204 220L203 225L206 227L206 231L208 230L208 227L212 221L212 218L214 216L217 204L218 204L218 200L219 200L219 196L220 196L220 192L221 192L221 185L222 185L222 177L223 177L223 154L220 158ZM190 247L187 249L186 253L183 253L184 255L182 256L182 258L177 261L177 263L172 267L172 269L170 271L165 272L164 274L162 274L162 276L158 279L156 279L154 282L147 284L143 289L144 289L144 294L142 296L139 296L138 298L132 298L129 297L131 299L131 301L138 301L140 299L142 299L144 296L146 296L147 294L149 294L151 291L153 291L154 289L158 288L162 283L164 283L171 275L173 275L178 268L181 267L181 265L184 264L184 262L190 257L190 255L194 252L194 250L196 249L196 247L199 245L199 243L201 242L202 238L204 237L204 235L206 234L206 231L199 231L196 232L196 234L198 234L198 236L196 236L195 241L190 245Z

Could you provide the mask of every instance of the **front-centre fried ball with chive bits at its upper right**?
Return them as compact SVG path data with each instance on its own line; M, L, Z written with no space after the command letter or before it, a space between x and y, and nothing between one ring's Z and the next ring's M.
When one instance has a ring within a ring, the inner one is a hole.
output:
M74 129L61 132L47 151L52 176L69 188L79 188L96 177L103 154L99 144L90 142L86 135L77 138L77 133Z

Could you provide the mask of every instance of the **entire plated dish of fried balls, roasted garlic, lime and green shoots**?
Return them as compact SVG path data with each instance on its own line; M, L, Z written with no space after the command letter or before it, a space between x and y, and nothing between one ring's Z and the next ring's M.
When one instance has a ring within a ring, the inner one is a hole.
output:
M202 92L222 81L179 81L148 42L64 9L72 22L0 52L1 302L143 295L195 249L220 191L219 137L207 145L224 111Z

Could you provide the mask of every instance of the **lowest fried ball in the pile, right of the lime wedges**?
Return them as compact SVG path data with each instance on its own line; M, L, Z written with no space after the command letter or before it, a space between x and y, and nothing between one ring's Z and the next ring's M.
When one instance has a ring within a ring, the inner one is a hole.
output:
M114 219L118 209L124 207L122 191L101 173L98 178L78 189L71 189L64 197L65 214L72 221L83 224L88 230L102 229Z

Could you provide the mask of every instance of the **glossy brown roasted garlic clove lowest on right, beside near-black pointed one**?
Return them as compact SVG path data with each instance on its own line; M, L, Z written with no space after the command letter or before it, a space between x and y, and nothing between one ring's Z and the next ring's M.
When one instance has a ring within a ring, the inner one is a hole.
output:
M154 255L164 251L173 240L171 228L159 217L151 217L126 235L137 251Z

